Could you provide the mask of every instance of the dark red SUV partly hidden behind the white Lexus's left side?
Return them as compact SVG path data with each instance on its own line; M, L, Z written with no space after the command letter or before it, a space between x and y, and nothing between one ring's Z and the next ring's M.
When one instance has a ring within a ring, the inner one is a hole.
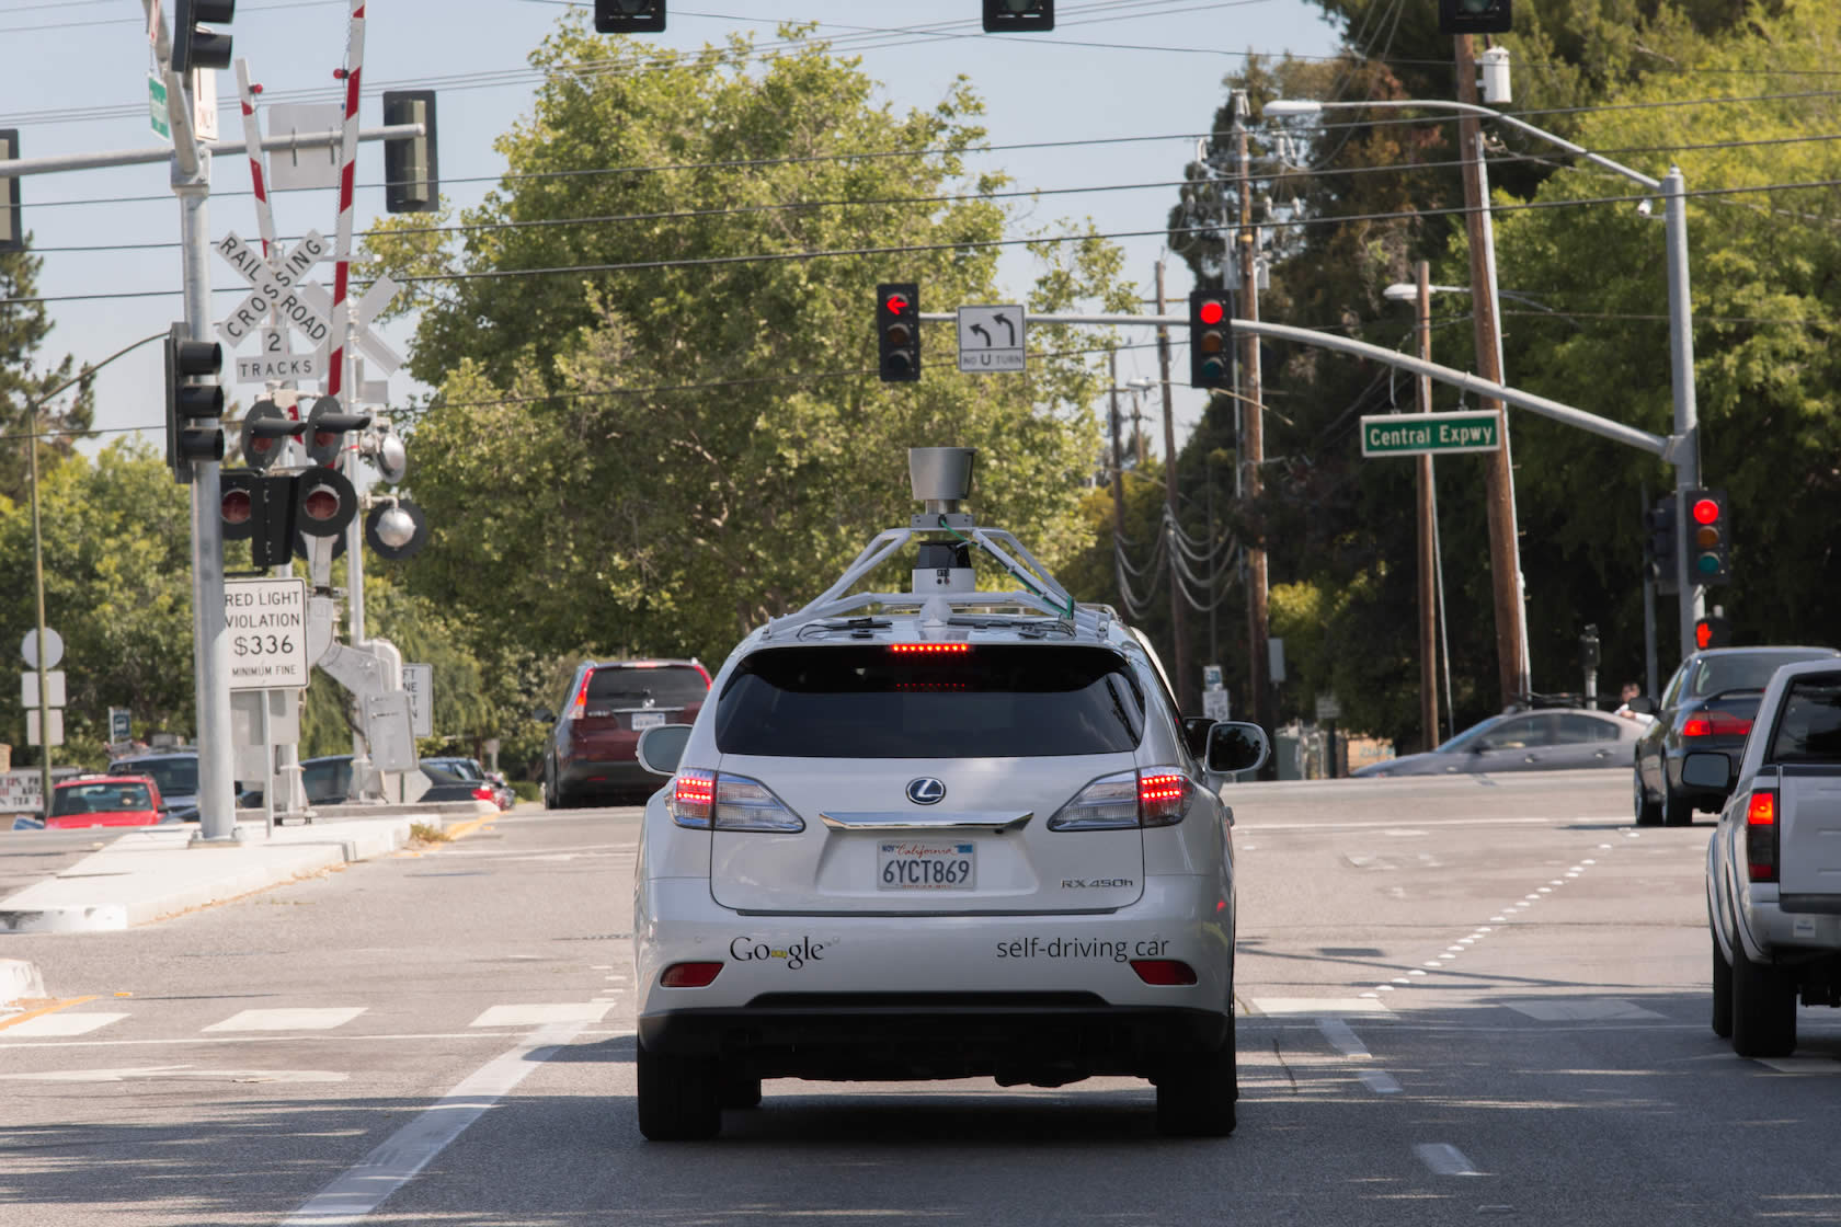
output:
M569 809L593 800L630 800L657 791L657 776L639 765L639 734L657 725L689 725L709 695L709 670L698 660L600 660L576 666L562 714L543 751L543 804Z

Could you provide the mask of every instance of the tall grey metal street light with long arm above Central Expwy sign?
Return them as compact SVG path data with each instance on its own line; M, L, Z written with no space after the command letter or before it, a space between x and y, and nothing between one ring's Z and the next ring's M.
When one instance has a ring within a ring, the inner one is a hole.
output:
M1567 153L1578 155L1600 166L1615 175L1655 191L1662 197L1664 223L1666 223L1666 241L1668 241L1668 353L1670 353L1670 375L1673 386L1675 401L1675 421L1670 438L1670 451L1664 460L1675 465L1675 499L1686 499L1690 489L1701 484L1701 460L1699 460L1699 421L1694 401L1694 304L1688 298L1688 206L1686 206L1686 178L1681 175L1679 166L1670 166L1668 175L1662 178L1653 178L1642 171L1633 171L1631 167L1613 162L1611 158L1592 153L1583 145L1576 145L1563 136L1556 136L1546 129L1534 127L1524 120L1502 114L1500 110L1491 110L1489 107L1480 107L1476 103L1464 103L1453 99L1381 99L1381 101L1360 101L1360 103L1322 103L1307 99L1285 99L1276 97L1265 105L1265 114L1268 116L1314 116L1331 109L1375 109L1375 110L1405 110L1405 109L1430 109L1430 110L1454 110L1458 114L1478 116L1495 120L1497 123L1506 123L1508 127L1526 132L1530 136L1539 136L1550 145L1559 145ZM1482 197L1484 217L1489 215L1489 193L1484 191ZM1491 235L1491 245L1493 245ZM1495 250L1488 252L1491 281L1495 270ZM1497 344L1500 346L1500 327L1497 329ZM1686 655L1694 651L1694 624L1707 613L1707 592L1699 587L1688 572L1688 552L1679 550L1675 563L1677 581L1681 585L1681 653Z

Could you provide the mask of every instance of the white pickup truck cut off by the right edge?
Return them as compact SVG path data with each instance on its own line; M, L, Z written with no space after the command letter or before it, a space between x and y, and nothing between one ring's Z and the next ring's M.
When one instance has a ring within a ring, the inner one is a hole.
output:
M1683 778L1729 791L1707 844L1714 1034L1788 1056L1799 1001L1841 1006L1841 662L1780 668L1738 771L1699 752Z

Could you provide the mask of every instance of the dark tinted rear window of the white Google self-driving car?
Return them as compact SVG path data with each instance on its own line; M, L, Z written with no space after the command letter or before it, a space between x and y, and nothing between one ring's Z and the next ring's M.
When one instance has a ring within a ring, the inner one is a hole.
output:
M716 703L724 754L1042 758L1130 751L1145 697L1105 648L887 644L775 648L742 660Z

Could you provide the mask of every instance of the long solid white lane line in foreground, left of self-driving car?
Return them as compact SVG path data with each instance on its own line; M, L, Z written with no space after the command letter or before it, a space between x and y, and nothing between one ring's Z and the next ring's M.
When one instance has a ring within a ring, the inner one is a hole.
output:
M585 1023L552 1023L530 1032L515 1049L492 1058L433 1107L387 1137L344 1175L317 1192L282 1227L339 1227L357 1223L383 1199L414 1179L449 1142L510 1095L554 1049L576 1038ZM543 1056L534 1056L543 1052Z

